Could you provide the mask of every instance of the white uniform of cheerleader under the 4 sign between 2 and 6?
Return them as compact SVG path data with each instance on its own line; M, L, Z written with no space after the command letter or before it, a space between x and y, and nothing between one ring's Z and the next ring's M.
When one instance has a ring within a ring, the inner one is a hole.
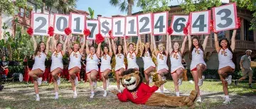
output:
M161 69L169 70L169 67L167 66L167 57L164 54L161 54L160 52L156 54L156 61L157 61L157 72Z

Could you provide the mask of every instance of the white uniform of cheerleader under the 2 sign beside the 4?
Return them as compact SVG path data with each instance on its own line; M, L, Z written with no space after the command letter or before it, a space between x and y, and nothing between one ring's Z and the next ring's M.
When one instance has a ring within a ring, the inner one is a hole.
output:
M154 62L152 61L152 58L150 57L149 51L146 51L144 53L144 56L142 56L143 62L144 62L144 71L146 69L149 69L149 67L156 67Z

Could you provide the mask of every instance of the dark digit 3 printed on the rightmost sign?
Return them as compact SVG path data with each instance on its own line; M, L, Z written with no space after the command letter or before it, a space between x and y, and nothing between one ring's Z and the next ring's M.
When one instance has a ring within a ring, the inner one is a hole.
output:
M219 28L227 28L228 26L230 26L233 23L233 19L228 18L231 15L231 11L227 8L224 8L224 9L218 11L217 15L220 15L221 13L225 13L225 16L220 17L221 21L225 20L225 24L218 23L217 26Z

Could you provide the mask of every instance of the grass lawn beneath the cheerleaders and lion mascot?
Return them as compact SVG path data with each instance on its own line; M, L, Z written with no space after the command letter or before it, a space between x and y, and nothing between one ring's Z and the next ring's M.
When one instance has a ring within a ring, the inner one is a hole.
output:
M111 84L115 85L116 83L112 82ZM62 84L59 86L60 98L57 101L53 99L53 85L43 84L39 87L41 96L40 102L35 101L33 84L7 83L4 84L4 86L4 91L0 91L0 108L159 108L135 105L131 102L121 103L117 100L117 97L110 92L107 98L103 98L102 92L97 91L95 98L90 99L88 83L79 84L78 98L74 99L70 83L62 81ZM102 82L98 82L98 86L102 86ZM173 81L167 81L164 87L171 91L169 95L174 95ZM247 96L256 94L255 88L248 88L246 83L241 83L239 86L230 85L228 88L232 95ZM181 95L188 95L193 89L193 84L190 84L188 81L183 81L182 86L180 86ZM203 91L203 103L197 103L197 108L218 108L222 105L223 100L220 101L220 97L215 97L223 96L220 81L204 81L203 86L201 86L201 91ZM235 105L235 103L231 105Z

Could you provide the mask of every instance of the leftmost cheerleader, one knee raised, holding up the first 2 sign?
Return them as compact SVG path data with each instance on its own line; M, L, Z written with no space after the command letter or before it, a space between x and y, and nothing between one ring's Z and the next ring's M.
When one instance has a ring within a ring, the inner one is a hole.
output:
M36 101L40 101L38 85L40 86L42 84L42 78L39 78L38 76L41 76L46 70L45 61L49 51L50 37L48 37L46 44L44 42L39 42L39 44L37 44L33 35L31 38L33 40L33 47L35 51L35 63L33 64L33 67L28 74L33 78L33 84L36 92Z

